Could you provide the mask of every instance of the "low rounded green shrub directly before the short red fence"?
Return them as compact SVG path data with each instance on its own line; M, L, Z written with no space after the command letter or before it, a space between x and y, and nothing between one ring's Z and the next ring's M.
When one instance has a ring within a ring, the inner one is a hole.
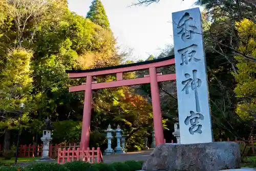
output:
M71 171L98 171L96 167L93 167L92 164L87 162L68 162L63 164L65 167L67 167Z

